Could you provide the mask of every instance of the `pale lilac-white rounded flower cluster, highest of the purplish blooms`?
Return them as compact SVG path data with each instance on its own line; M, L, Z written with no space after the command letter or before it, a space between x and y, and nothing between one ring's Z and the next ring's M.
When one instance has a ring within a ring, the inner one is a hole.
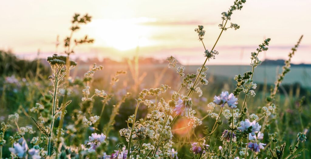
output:
M238 99L234 97L233 93L228 93L228 91L221 92L220 96L214 97L214 103L223 107L226 103L232 109L236 108L236 104L238 104Z

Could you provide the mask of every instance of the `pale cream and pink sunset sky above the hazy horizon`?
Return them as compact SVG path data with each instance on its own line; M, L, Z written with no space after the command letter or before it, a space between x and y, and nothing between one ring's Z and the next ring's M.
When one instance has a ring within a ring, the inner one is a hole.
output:
M92 16L74 38L88 35L93 44L77 46L74 57L122 60L137 53L164 59L170 55L182 64L202 64L204 47L194 29L204 25L204 44L214 45L220 29L221 13L233 0L13 0L0 5L0 49L12 50L21 58L41 58L55 53L56 38L70 34L74 13ZM241 11L234 11L232 23L220 37L215 60L208 64L249 64L250 53L265 38L269 50L258 57L286 59L299 37L304 38L292 62L311 63L310 0L247 0ZM63 44L63 43L61 43ZM138 51L137 51L138 47ZM58 47L58 53L63 47Z

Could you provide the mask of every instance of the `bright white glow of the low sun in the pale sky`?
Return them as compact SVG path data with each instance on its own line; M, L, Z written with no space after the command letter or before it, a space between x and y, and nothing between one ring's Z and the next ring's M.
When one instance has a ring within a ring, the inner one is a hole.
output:
M93 20L88 24L95 38L95 46L113 47L119 51L134 49L137 46L151 46L151 28L142 25L147 18Z

